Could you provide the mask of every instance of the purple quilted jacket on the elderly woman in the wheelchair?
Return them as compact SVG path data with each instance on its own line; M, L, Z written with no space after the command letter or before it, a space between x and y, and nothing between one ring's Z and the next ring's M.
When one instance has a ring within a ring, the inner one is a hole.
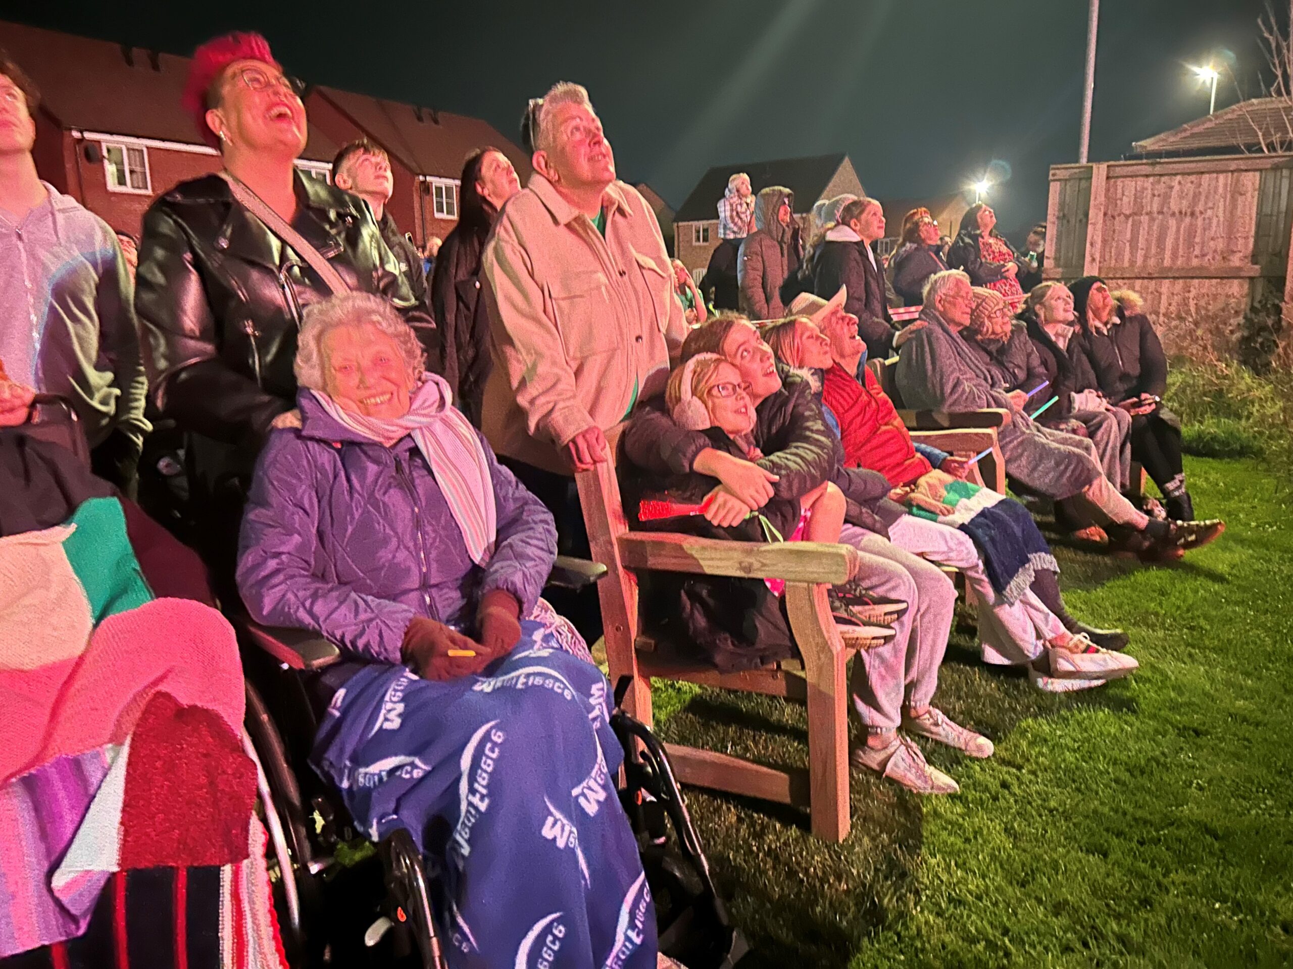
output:
M472 634L491 589L515 596L522 616L534 609L557 552L552 514L484 438L498 539L480 567L411 437L387 448L343 428L308 390L297 406L303 426L270 434L243 516L238 589L255 620L398 663L414 616Z

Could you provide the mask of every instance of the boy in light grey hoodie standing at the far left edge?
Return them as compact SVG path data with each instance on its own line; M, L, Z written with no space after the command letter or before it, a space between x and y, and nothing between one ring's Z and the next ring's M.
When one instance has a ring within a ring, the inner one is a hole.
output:
M0 362L22 389L5 407L66 398L94 472L129 491L150 430L134 286L109 225L36 176L37 103L0 52Z

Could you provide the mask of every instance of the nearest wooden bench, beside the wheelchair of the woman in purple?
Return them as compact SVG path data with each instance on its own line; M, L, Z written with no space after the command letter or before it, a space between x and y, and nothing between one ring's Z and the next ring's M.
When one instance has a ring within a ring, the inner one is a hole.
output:
M606 566L597 590L610 682L618 685L622 677L631 677L625 708L648 725L652 677L807 704L807 771L696 747L666 744L666 749L683 783L807 806L812 833L826 841L842 841L850 828L846 667L855 650L843 643L835 629L826 588L847 580L855 550L817 543L758 544L628 531L615 477L623 428L606 433L610 460L575 475L592 557ZM643 571L784 579L790 630L803 662L720 673L701 659L666 659L663 650L657 650L657 643L643 634L636 575Z

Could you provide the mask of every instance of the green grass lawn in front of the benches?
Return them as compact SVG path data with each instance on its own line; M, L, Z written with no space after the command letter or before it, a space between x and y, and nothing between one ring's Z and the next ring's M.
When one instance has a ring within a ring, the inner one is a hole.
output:
M1249 463L1187 472L1228 522L1210 548L1173 567L1058 549L1074 615L1133 634L1134 677L1043 695L956 630L935 703L997 744L924 744L959 795L855 774L852 833L825 845L796 811L688 789L751 965L1293 964L1293 521ZM665 739L807 762L799 707L657 702Z

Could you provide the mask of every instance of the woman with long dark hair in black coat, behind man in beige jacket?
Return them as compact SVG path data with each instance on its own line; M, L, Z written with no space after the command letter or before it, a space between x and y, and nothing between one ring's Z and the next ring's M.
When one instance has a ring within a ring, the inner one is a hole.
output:
M440 327L434 362L459 410L477 428L490 372L489 315L480 298L481 251L503 203L521 190L511 160L495 147L477 149L463 164L458 225L440 247L431 279L431 305Z

